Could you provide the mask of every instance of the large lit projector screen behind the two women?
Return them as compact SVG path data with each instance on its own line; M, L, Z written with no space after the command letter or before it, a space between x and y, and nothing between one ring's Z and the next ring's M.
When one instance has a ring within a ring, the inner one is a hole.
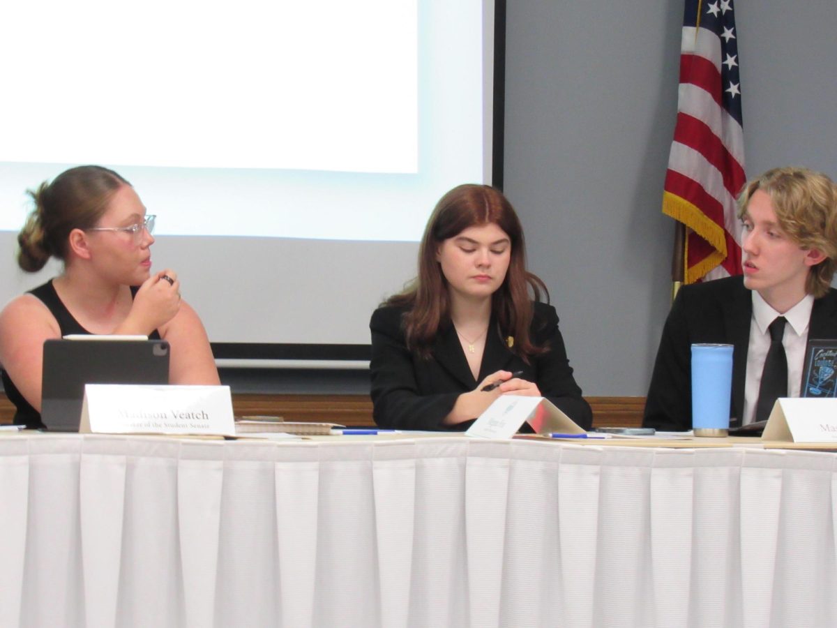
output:
M439 197L500 183L495 10L488 0L6 3L0 299L61 271L29 275L13 260L25 191L95 163L157 214L152 270L177 270L227 357L367 345L372 310L415 275Z

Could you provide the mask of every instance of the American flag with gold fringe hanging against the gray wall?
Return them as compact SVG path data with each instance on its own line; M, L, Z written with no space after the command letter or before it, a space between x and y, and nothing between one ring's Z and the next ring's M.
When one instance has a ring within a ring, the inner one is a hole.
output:
M735 199L746 181L732 0L686 0L677 124L663 194L663 213L688 228L685 283L741 275Z

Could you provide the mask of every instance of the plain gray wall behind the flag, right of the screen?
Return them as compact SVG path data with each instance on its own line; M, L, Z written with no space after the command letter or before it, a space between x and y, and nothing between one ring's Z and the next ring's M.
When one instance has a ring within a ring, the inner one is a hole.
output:
M737 0L747 175L837 176L834 0ZM584 393L644 395L670 304L660 212L682 0L511 0L505 191Z

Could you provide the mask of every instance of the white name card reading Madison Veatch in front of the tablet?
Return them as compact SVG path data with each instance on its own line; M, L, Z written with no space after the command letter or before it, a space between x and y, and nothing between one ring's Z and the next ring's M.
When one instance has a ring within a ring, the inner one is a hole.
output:
M235 435L229 386L88 383L82 433Z

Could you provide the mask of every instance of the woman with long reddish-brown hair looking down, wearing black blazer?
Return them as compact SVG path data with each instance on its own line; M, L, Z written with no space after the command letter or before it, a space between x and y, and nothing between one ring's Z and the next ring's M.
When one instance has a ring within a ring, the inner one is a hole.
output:
M419 275L369 324L377 425L465 430L498 396L517 394L547 397L589 429L590 406L542 293L506 197L474 184L446 193L424 230Z

